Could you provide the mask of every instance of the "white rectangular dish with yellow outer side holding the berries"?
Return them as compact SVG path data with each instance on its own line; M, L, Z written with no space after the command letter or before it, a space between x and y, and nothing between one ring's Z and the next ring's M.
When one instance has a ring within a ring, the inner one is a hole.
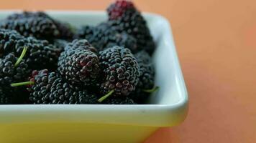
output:
M0 19L14 11L1 11ZM102 11L47 11L74 26L106 20ZM138 105L1 105L1 142L142 142L159 127L186 118L188 95L170 24L163 16L144 14L157 43L153 56L160 90Z

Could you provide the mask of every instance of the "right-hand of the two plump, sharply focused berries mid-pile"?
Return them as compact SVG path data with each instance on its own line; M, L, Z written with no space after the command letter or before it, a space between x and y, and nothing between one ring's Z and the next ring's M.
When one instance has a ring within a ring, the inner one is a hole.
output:
M113 46L99 52L103 82L101 94L114 91L114 96L128 96L134 91L140 73L132 52L122 46Z

